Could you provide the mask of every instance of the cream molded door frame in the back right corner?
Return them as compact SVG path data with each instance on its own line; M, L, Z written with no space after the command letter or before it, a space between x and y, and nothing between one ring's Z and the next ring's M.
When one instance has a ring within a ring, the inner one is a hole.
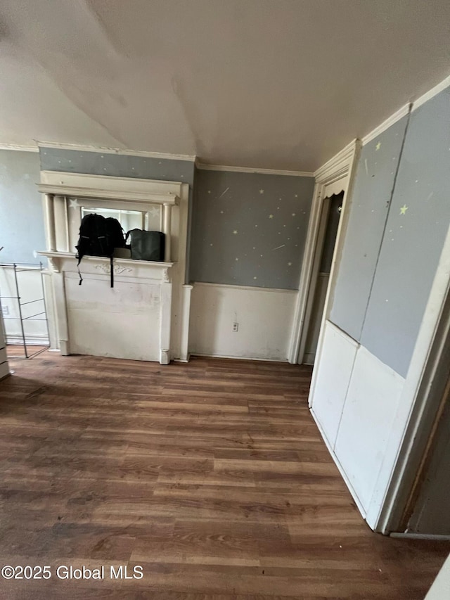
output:
M321 321L321 332L317 345L316 357L319 357L320 342L323 329L323 317L327 314L330 298L330 283L333 281L335 264L340 257L342 244L345 238L345 229L348 220L349 190L354 179L354 170L361 149L361 141L355 139L349 143L333 158L328 160L320 169L314 173L316 185L309 216L307 239L305 242L302 270L300 272L299 291L295 303L293 317L292 335L288 359L291 364L301 364L304 358L304 350L307 341L309 323L311 319L311 305L316 290L317 277L319 276L320 257L325 238L325 225L323 211L326 210L325 200L333 194L344 192L342 200L342 211L338 234L336 236L333 262L331 264L328 291L326 293L325 305Z

